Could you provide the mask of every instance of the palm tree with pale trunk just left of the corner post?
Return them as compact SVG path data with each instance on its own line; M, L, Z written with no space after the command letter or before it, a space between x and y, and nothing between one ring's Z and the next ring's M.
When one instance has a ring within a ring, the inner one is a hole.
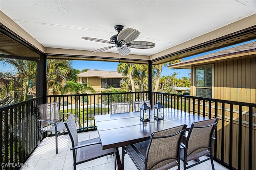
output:
M122 73L124 76L129 76L133 92L135 92L134 75L138 75L138 72L142 69L143 66L141 64L119 63L117 65L118 73Z

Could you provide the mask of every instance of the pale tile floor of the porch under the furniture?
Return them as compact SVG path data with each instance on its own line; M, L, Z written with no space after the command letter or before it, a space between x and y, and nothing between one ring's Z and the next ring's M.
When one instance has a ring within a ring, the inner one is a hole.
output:
M86 140L96 137L98 137L98 132L96 130L78 133L78 140ZM72 170L73 155L72 151L70 151L71 146L72 144L68 135L58 136L58 154L55 154L55 138L44 138L40 147L36 148L30 158L26 161L27 167L23 167L22 170ZM104 156L103 158L79 164L76 167L77 170L114 170L114 159L112 155L108 156L108 158ZM214 162L214 167L216 170L227 170L217 162ZM124 169L137 169L127 154L125 155ZM171 170L175 169L177 169L177 167L174 167ZM181 169L183 170L183 163L181 164ZM211 169L210 160L190 168L190 170Z

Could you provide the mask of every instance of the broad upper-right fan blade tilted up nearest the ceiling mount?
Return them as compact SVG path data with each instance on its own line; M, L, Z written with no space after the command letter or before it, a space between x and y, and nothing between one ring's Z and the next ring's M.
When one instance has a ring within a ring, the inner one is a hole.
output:
M126 28L118 34L117 41L121 43L132 42L133 40L138 38L139 35L140 32L138 30L135 30L133 28Z

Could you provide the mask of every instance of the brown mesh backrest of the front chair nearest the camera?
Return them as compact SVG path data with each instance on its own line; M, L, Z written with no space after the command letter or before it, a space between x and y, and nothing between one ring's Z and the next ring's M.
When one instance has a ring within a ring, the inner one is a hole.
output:
M156 169L180 160L180 142L187 125L152 132L146 151L144 169ZM153 168L154 167L154 168Z

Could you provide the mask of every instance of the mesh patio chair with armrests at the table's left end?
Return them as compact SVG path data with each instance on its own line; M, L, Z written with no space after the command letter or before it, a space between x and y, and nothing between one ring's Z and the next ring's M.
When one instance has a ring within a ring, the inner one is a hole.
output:
M73 152L74 170L78 164L114 154L114 148L102 150L100 138L93 138L78 142L76 123L74 119L74 115L71 114L68 121L65 123L68 135L72 142L72 148L70 148L70 150Z

